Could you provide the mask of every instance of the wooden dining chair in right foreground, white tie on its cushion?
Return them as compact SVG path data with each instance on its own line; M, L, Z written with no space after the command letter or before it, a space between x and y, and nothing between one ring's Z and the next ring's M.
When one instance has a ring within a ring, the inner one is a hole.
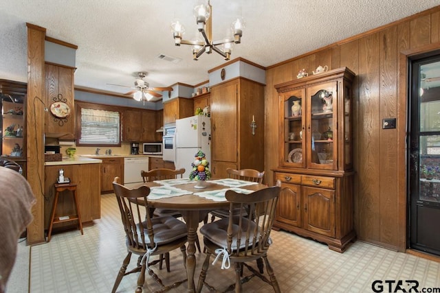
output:
M200 229L205 244L206 258L200 272L197 292L201 292L203 285L207 285L210 290L214 289L206 283L211 255L216 255L212 265L217 262L217 259L221 259L222 269L228 269L234 265L235 282L225 292L234 289L235 292L242 292L242 284L254 276L272 285L275 292L280 292L274 270L267 259L267 250L272 244L270 232L280 191L281 181L279 180L276 186L254 191L252 196L238 194L232 190L226 191L226 199L230 202L229 217L205 224ZM245 213L243 207L250 207L250 209ZM241 211L238 215L233 213L236 209ZM264 260L269 279L248 264L250 261L259 259ZM248 268L251 274L243 277L243 267Z

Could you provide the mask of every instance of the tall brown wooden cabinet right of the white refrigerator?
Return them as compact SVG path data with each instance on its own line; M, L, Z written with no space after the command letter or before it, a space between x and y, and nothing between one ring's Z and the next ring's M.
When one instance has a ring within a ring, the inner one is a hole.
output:
M264 85L236 78L211 88L212 178L264 169ZM255 120L256 128L250 127Z

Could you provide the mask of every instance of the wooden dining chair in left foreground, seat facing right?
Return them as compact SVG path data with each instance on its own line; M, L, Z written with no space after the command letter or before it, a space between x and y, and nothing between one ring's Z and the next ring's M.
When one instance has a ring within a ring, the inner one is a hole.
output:
M171 250L180 248L184 259L184 266L186 266L186 224L172 216L151 218L147 200L150 189L146 186L129 189L120 183L120 178L115 177L113 180L113 190L118 200L122 225L126 234L125 244L128 254L122 262L111 292L116 292L122 278L133 272L140 272L135 290L137 293L142 292L145 271L161 286L162 292L184 283L186 279L177 281L172 285L164 285L162 280L151 269L151 266L158 263L159 259L150 261L149 258L154 255L169 254ZM126 272L133 253L138 255L137 266L133 270Z

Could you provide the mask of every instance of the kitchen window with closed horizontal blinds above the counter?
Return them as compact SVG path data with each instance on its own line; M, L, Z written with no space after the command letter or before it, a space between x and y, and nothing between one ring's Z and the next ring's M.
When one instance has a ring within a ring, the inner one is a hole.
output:
M118 111L78 107L80 136L78 145L120 145Z

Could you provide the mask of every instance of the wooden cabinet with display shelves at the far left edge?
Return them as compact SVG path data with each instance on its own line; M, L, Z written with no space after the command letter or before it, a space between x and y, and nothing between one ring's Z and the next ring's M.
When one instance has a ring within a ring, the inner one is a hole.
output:
M0 80L0 154L18 163L23 176L26 176L26 91L25 83Z

